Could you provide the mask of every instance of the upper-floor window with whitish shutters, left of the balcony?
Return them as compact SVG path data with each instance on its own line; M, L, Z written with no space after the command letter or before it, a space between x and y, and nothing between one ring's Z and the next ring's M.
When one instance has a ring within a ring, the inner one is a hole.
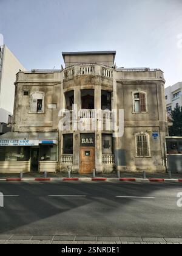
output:
M44 93L33 93L31 96L31 109L32 113L44 112Z

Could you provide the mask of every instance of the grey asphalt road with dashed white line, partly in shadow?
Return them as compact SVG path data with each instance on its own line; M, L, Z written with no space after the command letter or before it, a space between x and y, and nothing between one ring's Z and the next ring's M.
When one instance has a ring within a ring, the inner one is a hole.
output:
M0 235L182 237L181 183L1 182Z

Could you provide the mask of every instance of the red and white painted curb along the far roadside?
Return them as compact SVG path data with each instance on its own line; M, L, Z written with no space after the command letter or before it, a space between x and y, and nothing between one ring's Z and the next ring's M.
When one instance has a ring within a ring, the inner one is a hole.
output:
M181 182L182 179L141 179L141 178L7 178L7 179L0 179L0 182L7 181L7 182L51 182L51 181L63 181L63 182L76 182L76 181L92 181L92 182L106 182L106 181L120 181L120 182Z

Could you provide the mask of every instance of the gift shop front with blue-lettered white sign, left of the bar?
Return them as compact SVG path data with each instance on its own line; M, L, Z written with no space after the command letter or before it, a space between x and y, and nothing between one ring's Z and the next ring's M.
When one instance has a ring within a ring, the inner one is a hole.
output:
M0 173L56 172L57 133L6 133L0 137Z

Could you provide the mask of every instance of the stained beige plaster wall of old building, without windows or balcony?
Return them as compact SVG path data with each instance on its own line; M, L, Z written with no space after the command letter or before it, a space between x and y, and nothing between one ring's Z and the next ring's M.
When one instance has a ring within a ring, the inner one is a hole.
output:
M70 62L71 60L67 60ZM77 60L79 62L79 60ZM96 68L95 68L96 70ZM100 69L101 70L101 69ZM97 74L73 75L64 79L64 71L53 73L19 73L16 78L15 123L13 130L18 132L52 132L58 130L59 110L66 107L64 93L74 90L75 104L81 108L81 90L95 90L95 108L101 108L101 90L112 92L112 109L124 109L124 136L113 140L115 163L102 164L102 132L95 132L96 171L164 172L164 142L167 131L166 106L164 98L164 79L160 70L145 72L113 71L112 77ZM30 113L30 95L23 96L23 91L30 94L45 93L44 113ZM144 91L147 95L147 112L133 113L132 93ZM50 109L49 104L57 104ZM91 130L85 131L87 133ZM136 157L135 133L149 134L149 157ZM152 133L158 132L159 138L153 140ZM67 165L62 165L62 134L73 133L73 172L79 172L79 131L59 131L59 157L57 169L66 172ZM112 132L110 132L112 133ZM45 168L44 166L42 167ZM41 168L41 170L42 170ZM51 167L50 167L51 168Z

